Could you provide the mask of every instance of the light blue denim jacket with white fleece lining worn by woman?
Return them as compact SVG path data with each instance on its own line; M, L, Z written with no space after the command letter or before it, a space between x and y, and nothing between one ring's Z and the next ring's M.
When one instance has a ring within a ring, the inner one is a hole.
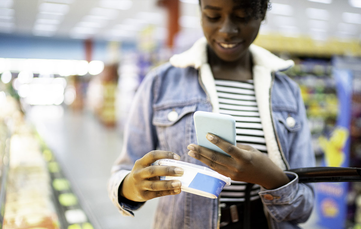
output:
M314 166L300 89L280 72L291 67L292 60L282 60L253 44L250 51L268 156L283 170ZM155 149L168 150L181 156L181 161L205 166L187 155L187 145L196 144L193 113L219 110L206 56L206 40L201 38L190 50L174 55L170 63L153 69L140 85L125 127L123 149L108 182L109 196L123 215L132 216L143 205L119 203L118 188L144 154ZM176 111L176 118L168 116L171 111ZM259 192L271 228L299 228L297 223L305 222L312 211L312 185L299 183L295 173L285 173L290 178L288 184L275 190L261 187ZM163 196L158 203L153 228L219 228L218 199L181 192Z

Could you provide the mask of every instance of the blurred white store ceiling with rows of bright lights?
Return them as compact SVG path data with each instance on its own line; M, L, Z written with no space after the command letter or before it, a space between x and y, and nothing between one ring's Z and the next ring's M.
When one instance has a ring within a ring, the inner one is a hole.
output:
M170 0L173 1L173 0ZM272 0L261 33L361 39L361 0ZM181 0L183 32L200 34L198 0ZM166 37L157 0L0 0L1 33L77 39L134 39L146 26Z

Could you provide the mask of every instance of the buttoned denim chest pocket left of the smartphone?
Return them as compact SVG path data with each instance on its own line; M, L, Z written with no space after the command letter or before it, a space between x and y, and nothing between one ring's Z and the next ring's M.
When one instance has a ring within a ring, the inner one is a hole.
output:
M184 155L191 143L193 113L197 104L155 109L152 123L156 127L159 149Z

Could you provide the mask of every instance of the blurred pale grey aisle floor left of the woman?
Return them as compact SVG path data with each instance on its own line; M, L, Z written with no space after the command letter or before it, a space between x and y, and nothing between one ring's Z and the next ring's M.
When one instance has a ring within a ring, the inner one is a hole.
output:
M55 154L95 229L150 228L157 200L123 217L108 198L110 167L122 148L121 132L90 113L60 106L33 107L28 117Z

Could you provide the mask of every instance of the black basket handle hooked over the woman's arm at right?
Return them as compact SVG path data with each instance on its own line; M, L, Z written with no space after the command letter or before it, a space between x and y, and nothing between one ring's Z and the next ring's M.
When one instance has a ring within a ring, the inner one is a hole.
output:
M349 167L305 167L287 170L299 176L299 182L361 181L361 169Z

